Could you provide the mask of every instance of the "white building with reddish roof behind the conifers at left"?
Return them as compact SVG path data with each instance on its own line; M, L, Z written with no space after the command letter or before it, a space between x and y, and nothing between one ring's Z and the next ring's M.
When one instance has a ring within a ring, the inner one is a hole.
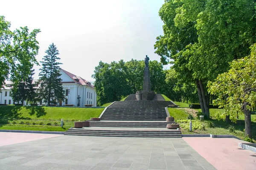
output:
M62 87L66 96L64 101L59 101L59 106L74 105L79 107L97 106L96 91L93 85L85 79L76 76L68 71L60 69ZM34 81L35 82L35 81ZM38 88L38 87L35 87ZM12 83L6 82L4 88L0 89L0 104L11 105L15 104L12 99ZM20 102L17 102L20 103ZM28 105L26 101L24 105ZM39 103L38 103L39 104Z

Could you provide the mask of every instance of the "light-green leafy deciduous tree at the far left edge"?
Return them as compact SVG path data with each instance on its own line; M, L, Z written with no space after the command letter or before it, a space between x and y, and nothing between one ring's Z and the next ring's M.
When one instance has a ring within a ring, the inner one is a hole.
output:
M10 26L11 24L0 16L0 88L6 79L17 85L20 82L20 72L28 78L31 66L38 64L35 59L39 49L36 35L40 30L34 29L29 33L27 27L20 27L11 31Z

